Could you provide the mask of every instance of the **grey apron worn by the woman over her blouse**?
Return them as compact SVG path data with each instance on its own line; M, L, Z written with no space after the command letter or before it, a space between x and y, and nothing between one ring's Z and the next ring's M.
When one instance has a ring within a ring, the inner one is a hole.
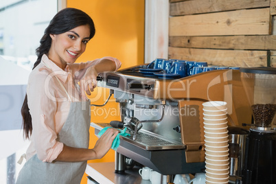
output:
M88 148L90 113L90 101L71 102L67 120L58 133L58 141L73 148ZM77 184L82 180L86 166L87 161L47 163L34 154L23 165L16 183Z

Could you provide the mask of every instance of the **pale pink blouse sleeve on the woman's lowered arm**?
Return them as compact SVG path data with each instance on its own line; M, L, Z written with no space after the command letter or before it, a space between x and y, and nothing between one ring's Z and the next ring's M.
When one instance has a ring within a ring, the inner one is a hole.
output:
M27 87L27 100L32 116L32 141L38 159L43 162L54 161L63 149L57 141L55 114L57 102L54 97L54 82L47 82L45 73L30 76Z

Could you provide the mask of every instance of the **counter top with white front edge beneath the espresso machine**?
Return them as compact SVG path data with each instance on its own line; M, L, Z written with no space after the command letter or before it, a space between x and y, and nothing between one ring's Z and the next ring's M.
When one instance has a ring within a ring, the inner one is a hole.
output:
M142 180L139 175L139 167L134 167L132 170L126 170L125 174L115 173L115 163L114 162L102 162L102 163L88 163L85 172L91 176L92 179L98 183L104 184L122 184L122 183L132 183L132 184L150 184L148 180Z

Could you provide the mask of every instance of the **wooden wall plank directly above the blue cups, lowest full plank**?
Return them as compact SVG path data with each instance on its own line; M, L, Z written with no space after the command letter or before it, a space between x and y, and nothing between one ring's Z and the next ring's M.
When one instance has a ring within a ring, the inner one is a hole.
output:
M171 59L202 61L222 66L264 67L267 66L268 54L268 51L169 47Z

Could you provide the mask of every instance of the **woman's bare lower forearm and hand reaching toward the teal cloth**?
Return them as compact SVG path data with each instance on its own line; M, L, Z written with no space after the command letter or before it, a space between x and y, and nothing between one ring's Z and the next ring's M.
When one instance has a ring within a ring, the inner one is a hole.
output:
M97 140L93 149L72 148L64 145L62 152L55 161L87 161L101 159L111 148L113 140L118 134L118 130L108 128L106 132Z

